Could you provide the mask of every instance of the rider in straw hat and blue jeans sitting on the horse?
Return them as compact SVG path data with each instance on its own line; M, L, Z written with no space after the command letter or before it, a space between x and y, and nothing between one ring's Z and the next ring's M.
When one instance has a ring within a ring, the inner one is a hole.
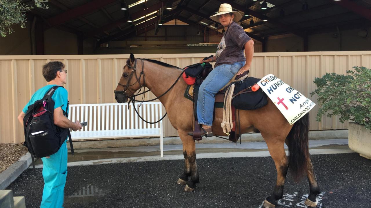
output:
M254 41L237 24L241 18L242 15L238 11L232 11L230 4L221 4L218 13L210 17L223 25L226 32L220 40L216 56L200 61L200 63L216 62L214 69L203 81L198 91L197 118L198 123L202 124L201 137L213 136L211 127L213 125L215 94L236 74L243 74L250 69ZM188 134L193 135L193 132Z

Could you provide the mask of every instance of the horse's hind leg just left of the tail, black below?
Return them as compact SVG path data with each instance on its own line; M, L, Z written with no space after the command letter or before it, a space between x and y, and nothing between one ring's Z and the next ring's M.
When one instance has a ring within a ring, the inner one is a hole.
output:
M275 203L278 199L283 196L283 186L285 185L285 179L287 170L289 168L289 161L286 157L286 152L284 148L284 141L267 141L268 150L270 156L272 156L275 161L276 170L277 170L277 181L276 186L273 190L273 194L267 197L263 203L264 208L274 208L276 207Z

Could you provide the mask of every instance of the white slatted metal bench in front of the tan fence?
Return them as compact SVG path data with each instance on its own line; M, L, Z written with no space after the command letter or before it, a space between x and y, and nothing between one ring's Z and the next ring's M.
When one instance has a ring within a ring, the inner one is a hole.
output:
M139 115L148 122L162 118L162 104L149 102L135 104ZM163 157L162 121L148 124L138 117L132 104L104 103L69 105L68 119L88 121L88 125L79 131L71 131L73 140L102 138L160 137L160 151Z

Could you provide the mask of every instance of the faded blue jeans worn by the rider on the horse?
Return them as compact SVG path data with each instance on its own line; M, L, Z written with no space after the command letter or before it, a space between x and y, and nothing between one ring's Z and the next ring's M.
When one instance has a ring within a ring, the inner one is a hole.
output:
M245 61L215 67L198 90L197 119L199 124L213 125L215 94L245 65Z

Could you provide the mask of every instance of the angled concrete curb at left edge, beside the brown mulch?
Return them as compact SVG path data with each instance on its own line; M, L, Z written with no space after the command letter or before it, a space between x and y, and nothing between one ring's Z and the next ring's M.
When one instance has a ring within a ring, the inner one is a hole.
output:
M31 163L31 154L27 152L18 161L10 165L9 168L0 174L0 190L8 187Z

